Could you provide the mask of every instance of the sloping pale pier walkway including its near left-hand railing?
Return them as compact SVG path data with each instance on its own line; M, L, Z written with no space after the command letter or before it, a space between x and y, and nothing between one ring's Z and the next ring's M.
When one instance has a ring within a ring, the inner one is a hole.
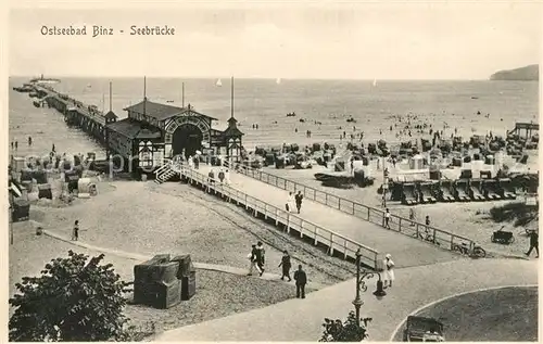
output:
M244 205L255 217L282 225L287 232L328 249L328 253L354 259L361 249L362 262L372 269L382 268L386 254L391 254L396 267L424 266L462 259L463 256L428 242L399 234L375 224L330 208L318 202L304 200L301 214L285 211L288 192L251 177L230 173L229 184L210 183L212 166L199 169L176 168L190 183L199 183L211 193Z

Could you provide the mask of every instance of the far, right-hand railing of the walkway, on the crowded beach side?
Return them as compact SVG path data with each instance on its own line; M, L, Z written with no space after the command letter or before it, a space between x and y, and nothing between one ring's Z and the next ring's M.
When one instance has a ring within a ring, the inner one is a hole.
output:
M228 165L228 162L225 162ZM356 216L368 222L383 227L384 230L393 230L399 233L413 237L429 244L437 245L444 250L456 251L458 245L467 245L469 252L472 252L476 242L469 238L451 233L432 226L417 222L397 215L392 215L389 220L390 229L384 228L384 211L370 207L315 188L299 183L263 170L254 169L250 166L238 165L229 166L231 170L237 170L245 176L263 181L279 189L298 192L301 191L305 199L324 204L340 212Z

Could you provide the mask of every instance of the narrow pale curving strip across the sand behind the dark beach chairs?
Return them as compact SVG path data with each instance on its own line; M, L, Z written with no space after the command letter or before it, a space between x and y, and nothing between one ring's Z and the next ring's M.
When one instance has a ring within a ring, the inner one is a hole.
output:
M99 247L96 245L88 244L86 242L73 241L64 235L61 235L61 234L55 233L54 231L50 231L50 230L43 230L43 234L48 235L50 238L60 240L60 241L64 241L68 244L75 245L75 246L84 247L84 249L87 249L90 251L108 253L108 254L111 254L111 255L114 255L114 256L117 256L121 258L126 258L126 259L131 259L131 260L137 260L137 262L144 262L144 260L149 260L152 258L151 255L142 255L142 254L137 254L137 253L114 250L114 249ZM247 276L247 273L248 273L248 269L237 268L237 267L227 266L227 265L197 263L197 262L192 262L192 264L194 265L194 267L197 269L202 269L202 270L226 272L226 273L238 275L238 276ZM260 278L263 280L268 280L268 281L282 282L280 280L280 276L275 275L275 273L265 272ZM287 283L287 282L285 282L285 283ZM312 286L314 286L315 289L320 289L323 285L320 285L320 284L316 285L316 283L312 283Z

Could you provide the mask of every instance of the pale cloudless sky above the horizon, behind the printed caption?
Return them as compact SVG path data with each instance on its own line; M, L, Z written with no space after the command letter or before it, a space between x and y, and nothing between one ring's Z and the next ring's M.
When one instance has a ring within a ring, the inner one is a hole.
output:
M489 2L20 7L9 17L10 75L60 77L488 79L539 63L543 27L540 4ZM70 25L115 35L40 34ZM131 25L176 33L130 36Z

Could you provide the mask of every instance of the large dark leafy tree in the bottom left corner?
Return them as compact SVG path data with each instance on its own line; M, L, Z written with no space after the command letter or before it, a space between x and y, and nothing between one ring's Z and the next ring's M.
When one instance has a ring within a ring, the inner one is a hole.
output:
M10 341L108 341L125 340L123 315L127 282L113 265L68 252L52 259L40 277L24 277L10 298L15 308L10 319Z

